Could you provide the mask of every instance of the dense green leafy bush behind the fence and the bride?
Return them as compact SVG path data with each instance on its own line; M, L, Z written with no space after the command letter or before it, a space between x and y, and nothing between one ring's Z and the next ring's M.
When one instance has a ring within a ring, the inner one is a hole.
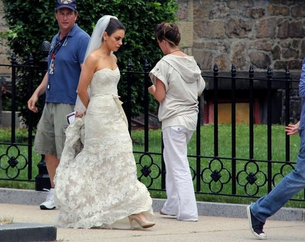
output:
M51 41L53 35L58 32L58 24L54 17L55 0L36 0L33 5L31 0L3 0L5 18L9 26L2 37L8 38L11 50L17 56L19 63L27 63L29 53L33 56L33 64L39 65L42 58L41 44L43 41ZM177 3L175 0L145 1L145 0L82 0L78 1L78 25L91 35L98 19L105 14L118 16L126 27L124 44L116 53L120 70L127 69L128 58L131 59L132 71L143 71L144 59L153 67L162 57L155 42L154 29L161 22L175 22ZM18 106L24 117L27 116L26 102L29 94L28 71L18 72ZM34 88L41 80L41 73L34 73ZM126 80L122 76L119 84L119 94L126 103ZM132 76L132 112L138 114L143 107L144 77ZM151 98L153 99L153 98ZM156 103L150 105L156 108ZM42 107L40 106L40 111ZM35 115L37 122L40 113ZM35 125L35 124L34 124Z

